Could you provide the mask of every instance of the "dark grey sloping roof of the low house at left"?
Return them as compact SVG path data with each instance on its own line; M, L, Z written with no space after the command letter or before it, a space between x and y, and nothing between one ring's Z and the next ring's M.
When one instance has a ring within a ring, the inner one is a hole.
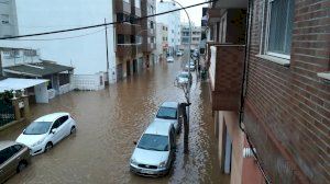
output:
M44 77L62 71L69 71L73 69L73 67L57 65L55 62L44 60L42 62L22 64L18 66L4 67L3 72L26 77Z

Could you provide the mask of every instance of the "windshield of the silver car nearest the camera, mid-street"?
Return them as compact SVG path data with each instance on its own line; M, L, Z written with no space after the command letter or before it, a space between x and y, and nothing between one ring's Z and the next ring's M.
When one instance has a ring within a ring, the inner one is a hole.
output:
M144 134L139 141L138 148L153 151L168 151L168 137Z

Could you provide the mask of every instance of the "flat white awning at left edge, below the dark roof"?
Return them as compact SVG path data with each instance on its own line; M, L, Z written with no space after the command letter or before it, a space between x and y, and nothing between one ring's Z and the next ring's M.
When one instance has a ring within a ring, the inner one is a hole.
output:
M48 81L50 80L47 79L8 78L0 81L0 92L11 91L11 90L23 90Z

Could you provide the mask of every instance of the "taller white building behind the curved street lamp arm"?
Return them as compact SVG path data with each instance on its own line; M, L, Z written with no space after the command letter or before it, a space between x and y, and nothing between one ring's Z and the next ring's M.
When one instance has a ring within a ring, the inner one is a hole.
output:
M157 13L178 9L174 2L157 2ZM158 23L163 23L168 26L168 50L169 55L173 55L180 46L180 12L163 14L156 18Z

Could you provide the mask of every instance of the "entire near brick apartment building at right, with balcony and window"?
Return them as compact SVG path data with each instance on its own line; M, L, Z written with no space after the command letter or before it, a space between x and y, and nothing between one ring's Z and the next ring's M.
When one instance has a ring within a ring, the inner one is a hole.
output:
M231 183L330 182L328 4L209 4L207 59L219 172L230 174Z

